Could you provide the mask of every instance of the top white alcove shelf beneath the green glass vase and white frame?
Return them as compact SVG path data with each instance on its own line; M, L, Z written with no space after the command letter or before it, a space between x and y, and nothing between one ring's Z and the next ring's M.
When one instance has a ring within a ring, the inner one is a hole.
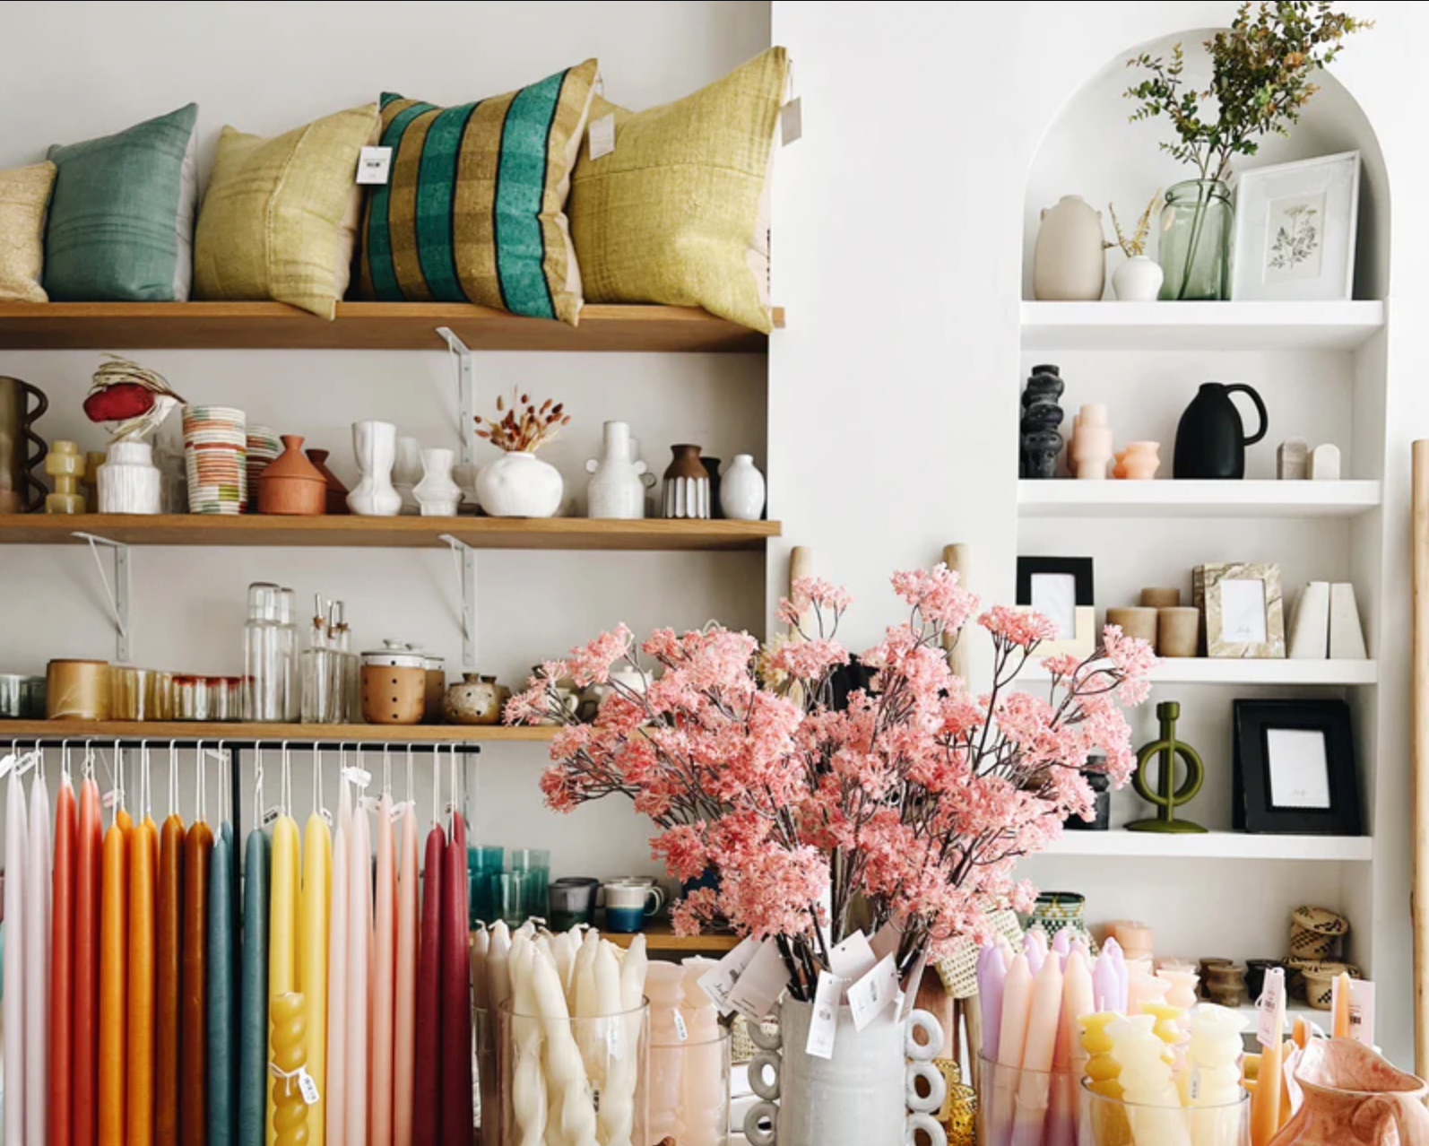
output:
M1023 350L1353 350L1383 303L1023 303Z

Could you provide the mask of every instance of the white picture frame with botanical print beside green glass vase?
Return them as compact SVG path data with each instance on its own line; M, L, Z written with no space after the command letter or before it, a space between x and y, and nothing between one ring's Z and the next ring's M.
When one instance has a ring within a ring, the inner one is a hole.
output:
M1359 169L1359 151L1342 151L1238 174L1235 302L1355 297Z

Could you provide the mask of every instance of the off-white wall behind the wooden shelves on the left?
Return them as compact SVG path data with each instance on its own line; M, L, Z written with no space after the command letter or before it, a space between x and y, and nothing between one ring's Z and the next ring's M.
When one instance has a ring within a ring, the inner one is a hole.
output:
M610 99L637 109L663 103L767 47L769 4L30 3L0 9L0 39L7 46L0 96L27 109L23 127L16 123L0 137L0 166L196 100L207 167L224 123L280 133L376 100L384 89L459 103L589 56L600 59ZM396 422L427 444L456 442L444 352L139 357L193 402L239 406L257 423L333 449L344 477L353 473L347 426L356 419ZM0 373L50 394L53 412L40 423L46 437L100 449L103 433L79 409L97 360L91 353L0 353ZM517 384L566 399L574 422L549 459L576 494L604 419L634 424L656 472L672 442L699 442L725 459L752 450L763 460L762 357L487 354L477 370L486 403ZM507 683L619 620L637 632L710 617L759 630L763 620L757 554L493 553L482 556L479 577L482 664ZM383 637L419 640L453 670L460 664L454 574L444 553L240 549L134 553L134 662L240 672L252 580L292 584L304 600L314 592L344 599L363 647ZM114 656L87 553L3 550L0 586L0 672L40 673L54 656ZM544 760L539 746L492 747L482 756L479 837L549 846L563 873L654 870L649 827L629 807L583 809L569 822L542 809L536 779ZM183 767L191 770L190 757ZM166 774L156 779L160 792ZM419 774L424 809L429 769ZM306 790L302 782L297 790ZM304 794L299 804L306 814ZM187 794L184 810L193 812Z

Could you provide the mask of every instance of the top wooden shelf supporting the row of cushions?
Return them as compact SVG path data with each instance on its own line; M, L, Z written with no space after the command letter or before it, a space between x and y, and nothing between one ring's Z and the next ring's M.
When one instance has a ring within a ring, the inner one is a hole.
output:
M775 312L783 326L783 310ZM580 326L466 303L0 303L0 350L473 350L763 353L757 330L694 307L587 306Z

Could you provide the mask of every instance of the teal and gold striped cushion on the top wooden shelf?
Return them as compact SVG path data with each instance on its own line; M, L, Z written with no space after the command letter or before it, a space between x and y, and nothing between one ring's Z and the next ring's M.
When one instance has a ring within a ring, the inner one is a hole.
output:
M367 199L364 297L472 302L580 319L580 269L566 221L597 63L460 107L384 93L386 186Z

